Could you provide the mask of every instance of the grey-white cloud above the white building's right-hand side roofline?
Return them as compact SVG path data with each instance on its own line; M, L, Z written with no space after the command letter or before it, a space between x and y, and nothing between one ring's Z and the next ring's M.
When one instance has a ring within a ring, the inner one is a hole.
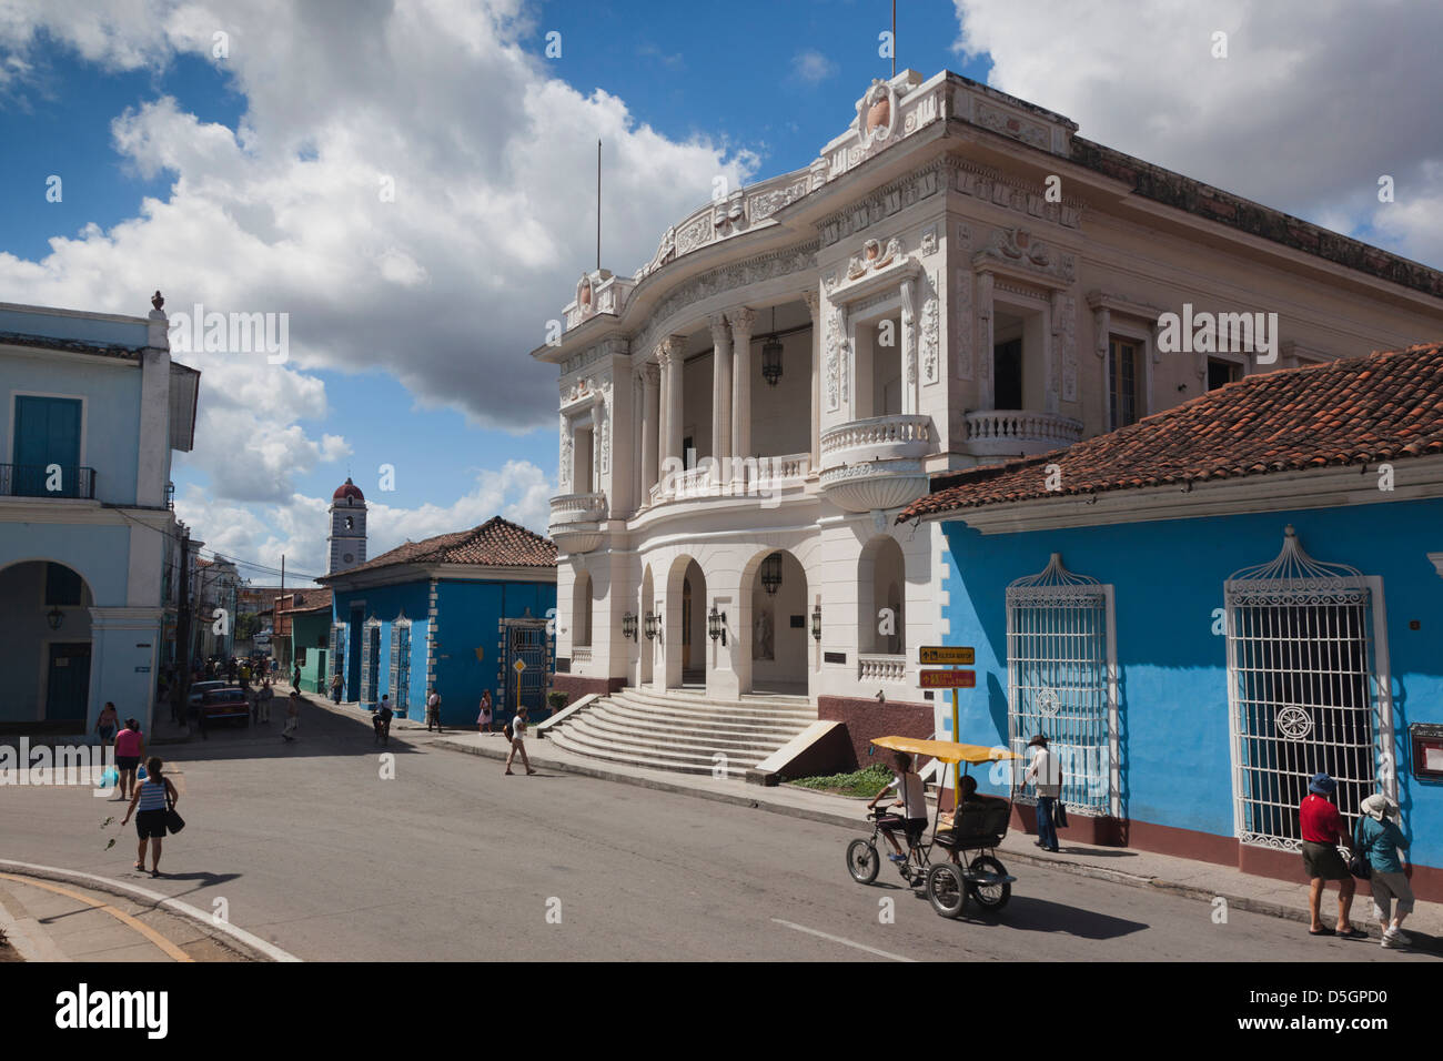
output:
M955 0L957 51L1079 136L1443 264L1443 7ZM1039 17L1040 16L1040 17ZM1039 25L1046 26L1039 33ZM1228 35L1228 58L1212 35ZM1380 204L1391 173L1398 202Z

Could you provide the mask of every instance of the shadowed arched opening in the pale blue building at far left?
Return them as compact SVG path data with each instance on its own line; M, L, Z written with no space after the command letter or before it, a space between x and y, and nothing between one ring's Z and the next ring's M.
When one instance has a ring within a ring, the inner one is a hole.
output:
M84 576L62 563L27 560L0 570L0 645L10 664L0 720L85 728L94 605Z

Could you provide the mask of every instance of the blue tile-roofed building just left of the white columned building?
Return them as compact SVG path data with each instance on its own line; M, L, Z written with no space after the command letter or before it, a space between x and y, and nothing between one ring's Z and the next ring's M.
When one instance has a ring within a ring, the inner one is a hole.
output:
M494 517L320 582L335 595L328 658L345 702L374 709L388 694L418 719L436 689L442 722L473 726L489 689L498 720L515 712L518 694L532 719L544 717L556 616L548 538Z

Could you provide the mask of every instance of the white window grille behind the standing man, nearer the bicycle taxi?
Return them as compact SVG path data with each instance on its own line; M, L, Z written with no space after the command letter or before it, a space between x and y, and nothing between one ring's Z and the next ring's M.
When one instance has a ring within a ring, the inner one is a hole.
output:
M1084 816L1120 814L1113 588L1062 566L1007 586L1007 735L1027 755L1038 733L1062 768L1062 801ZM1022 769L1013 798L1030 803Z

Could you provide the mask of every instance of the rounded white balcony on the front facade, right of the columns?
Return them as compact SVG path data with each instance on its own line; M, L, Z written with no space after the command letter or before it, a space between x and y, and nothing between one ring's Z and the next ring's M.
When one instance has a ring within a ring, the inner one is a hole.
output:
M922 458L937 449L932 417L893 413L821 436L821 489L848 512L900 508L926 492Z

